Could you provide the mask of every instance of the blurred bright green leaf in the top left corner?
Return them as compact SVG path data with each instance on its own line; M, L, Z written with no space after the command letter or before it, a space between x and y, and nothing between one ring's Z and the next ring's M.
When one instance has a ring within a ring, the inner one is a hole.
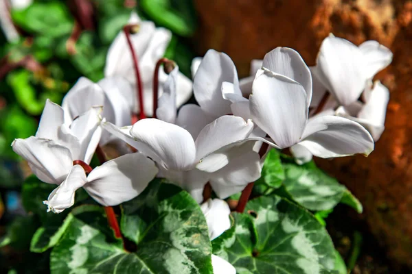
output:
M12 10L12 19L27 32L44 36L58 37L73 29L73 19L61 1L35 2L27 9Z

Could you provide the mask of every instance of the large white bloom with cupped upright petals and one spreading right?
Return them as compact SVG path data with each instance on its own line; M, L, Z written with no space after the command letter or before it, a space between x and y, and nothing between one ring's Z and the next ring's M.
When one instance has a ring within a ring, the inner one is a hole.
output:
M374 149L369 132L349 119L317 116L308 121L312 98L310 70L297 51L278 47L267 53L249 97L251 117L284 149L301 145L321 158L354 153L368 155Z

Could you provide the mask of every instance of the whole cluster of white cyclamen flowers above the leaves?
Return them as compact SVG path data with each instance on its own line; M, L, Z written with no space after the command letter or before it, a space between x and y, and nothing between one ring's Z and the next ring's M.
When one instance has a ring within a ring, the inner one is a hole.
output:
M130 32L119 33L108 51L105 78L80 78L62 107L47 101L36 136L12 144L39 179L57 185L44 201L48 211L73 206L81 187L103 206L116 206L163 177L202 203L213 239L230 227L223 199L260 177L268 147L290 148L299 162L368 155L382 134L389 92L371 79L392 55L375 41L356 47L331 35L314 67L278 47L253 60L244 79L228 55L209 50L194 60L192 82L170 61L172 69L158 71L168 30L137 14L129 23ZM192 90L198 105L183 105ZM153 118L132 125L135 114ZM91 169L96 149L102 154L109 143L119 157L106 162L103 155ZM207 184L219 199L203 195ZM216 273L235 273L219 257L212 262Z

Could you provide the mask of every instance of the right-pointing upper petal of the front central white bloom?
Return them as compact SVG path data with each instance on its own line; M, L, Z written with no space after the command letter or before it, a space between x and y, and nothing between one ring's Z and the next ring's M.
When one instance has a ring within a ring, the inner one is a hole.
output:
M206 125L196 138L196 159L221 149L233 142L247 138L253 130L253 123L237 116L221 116Z

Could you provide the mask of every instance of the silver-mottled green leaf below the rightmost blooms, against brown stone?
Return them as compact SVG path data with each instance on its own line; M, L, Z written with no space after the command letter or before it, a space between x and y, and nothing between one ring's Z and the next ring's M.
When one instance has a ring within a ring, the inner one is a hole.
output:
M308 210L330 210L341 201L347 192L345 186L316 166L284 164L284 169L286 179L283 184L286 190L293 200Z

